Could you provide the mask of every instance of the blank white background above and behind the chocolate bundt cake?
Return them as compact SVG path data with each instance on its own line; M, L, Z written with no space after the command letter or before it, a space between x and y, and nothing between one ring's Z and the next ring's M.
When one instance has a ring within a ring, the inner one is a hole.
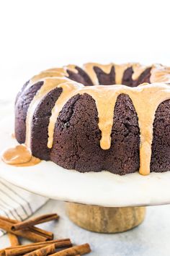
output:
M165 0L1 0L0 99L64 64L170 65L169 7Z

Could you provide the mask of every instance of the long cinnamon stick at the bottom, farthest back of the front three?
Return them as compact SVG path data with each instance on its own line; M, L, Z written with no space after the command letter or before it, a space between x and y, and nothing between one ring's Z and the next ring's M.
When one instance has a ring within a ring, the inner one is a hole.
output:
M46 247L50 244L55 244L55 248L63 248L63 247L71 247L71 240L70 239L57 239L47 242L38 242L33 244L27 245L20 245L17 247L8 247L4 249L6 256L17 256L17 255L25 255L28 252L33 252L36 249L40 249L42 247ZM1 255L4 256L4 255Z

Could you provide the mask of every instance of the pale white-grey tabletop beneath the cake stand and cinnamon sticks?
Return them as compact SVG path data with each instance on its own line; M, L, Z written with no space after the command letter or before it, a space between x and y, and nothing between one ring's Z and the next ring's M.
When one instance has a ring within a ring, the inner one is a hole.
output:
M97 234L79 228L66 216L64 203L50 200L35 213L57 212L61 218L55 224L41 227L53 231L55 238L70 237L73 243L91 244L91 256L168 256L170 255L170 205L147 208L145 221L135 229L121 234ZM22 243L25 243L22 240ZM0 247L9 245L8 237L0 239Z

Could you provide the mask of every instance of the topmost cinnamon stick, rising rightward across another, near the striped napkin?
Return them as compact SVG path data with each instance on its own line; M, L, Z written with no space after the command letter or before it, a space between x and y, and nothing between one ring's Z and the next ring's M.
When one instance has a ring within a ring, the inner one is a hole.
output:
M22 222L14 224L12 226L12 231L17 231L19 229L25 229L27 227L35 226L37 224L48 222L48 221L58 220L58 218L59 218L59 216L56 213L45 214L45 215L39 216L37 218L32 218L31 220L22 221Z

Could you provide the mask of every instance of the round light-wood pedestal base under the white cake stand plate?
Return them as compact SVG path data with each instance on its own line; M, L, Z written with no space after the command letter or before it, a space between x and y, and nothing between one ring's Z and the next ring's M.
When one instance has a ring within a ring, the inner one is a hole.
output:
M68 217L83 229L99 233L118 233L133 229L144 220L145 207L107 208L66 202Z

